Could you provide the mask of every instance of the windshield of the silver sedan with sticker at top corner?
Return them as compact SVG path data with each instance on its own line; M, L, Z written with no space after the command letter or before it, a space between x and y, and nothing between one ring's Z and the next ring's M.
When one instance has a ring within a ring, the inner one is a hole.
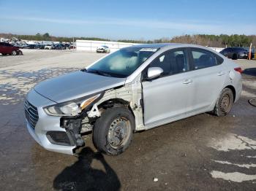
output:
M157 49L151 48L126 47L94 63L87 72L110 77L128 77L156 51Z

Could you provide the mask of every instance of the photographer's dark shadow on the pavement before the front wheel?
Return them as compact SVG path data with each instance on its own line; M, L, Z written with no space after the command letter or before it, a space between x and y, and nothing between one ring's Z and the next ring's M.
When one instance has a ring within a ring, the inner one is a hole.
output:
M99 161L103 170L93 168L93 160ZM120 190L121 183L116 172L104 156L85 147L78 154L78 161L65 168L53 181L56 190Z

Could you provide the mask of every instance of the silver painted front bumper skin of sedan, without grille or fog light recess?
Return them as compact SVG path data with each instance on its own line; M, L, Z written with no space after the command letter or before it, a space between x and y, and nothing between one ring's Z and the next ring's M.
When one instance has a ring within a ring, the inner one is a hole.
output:
M48 100L42 95L39 95L39 93L37 93L34 89L29 91L29 93L26 95L26 100L29 101L31 105L37 107L38 120L34 128L26 119L26 128L29 130L29 133L34 138L34 140L49 151L72 155L75 148L77 147L76 145L67 146L53 144L47 136L48 132L67 132L65 128L61 128L61 117L50 116L43 110L43 107L56 103Z

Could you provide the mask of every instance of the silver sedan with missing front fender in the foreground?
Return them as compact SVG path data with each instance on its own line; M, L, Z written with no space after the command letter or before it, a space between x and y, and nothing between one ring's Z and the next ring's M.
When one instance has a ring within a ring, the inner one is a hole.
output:
M204 112L227 115L241 90L241 68L214 50L140 44L33 87L27 129L45 149L70 155L92 132L99 151L118 155L134 132Z

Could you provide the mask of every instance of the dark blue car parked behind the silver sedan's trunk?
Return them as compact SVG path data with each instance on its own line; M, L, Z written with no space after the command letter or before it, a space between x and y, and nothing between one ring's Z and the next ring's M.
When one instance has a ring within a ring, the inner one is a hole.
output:
M219 53L225 55L227 58L232 58L233 60L238 58L248 58L249 55L249 52L242 47L227 47Z

